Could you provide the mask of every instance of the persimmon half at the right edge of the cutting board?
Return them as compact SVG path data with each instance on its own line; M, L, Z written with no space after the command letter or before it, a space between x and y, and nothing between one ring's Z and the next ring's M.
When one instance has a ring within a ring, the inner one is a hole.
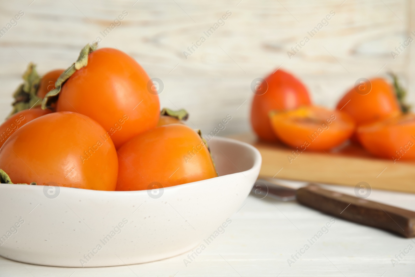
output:
M415 159L415 114L361 125L357 137L366 150L378 157Z

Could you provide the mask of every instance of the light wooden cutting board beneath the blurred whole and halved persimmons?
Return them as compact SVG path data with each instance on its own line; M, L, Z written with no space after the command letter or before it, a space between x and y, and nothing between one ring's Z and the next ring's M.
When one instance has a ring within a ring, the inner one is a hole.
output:
M252 133L230 136L256 147L262 155L260 178L274 177L325 184L415 193L415 162L378 159L359 145L349 143L325 152L305 150L296 155L282 144L260 142ZM291 157L291 158L289 158Z

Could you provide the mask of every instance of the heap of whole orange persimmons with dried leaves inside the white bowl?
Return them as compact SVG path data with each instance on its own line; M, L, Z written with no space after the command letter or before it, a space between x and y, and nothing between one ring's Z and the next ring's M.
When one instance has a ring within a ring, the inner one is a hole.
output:
M159 96L147 89L149 82L144 69L117 49L87 46L73 66L43 78L29 65L15 93L14 113L0 127L3 174L14 183L53 181L109 191L216 177L200 135L164 120L169 110L160 121ZM186 112L170 115L172 122L181 123L178 118ZM176 160L183 160L178 152L186 149L188 154L194 145L200 150L191 163L196 170L189 174L189 163Z

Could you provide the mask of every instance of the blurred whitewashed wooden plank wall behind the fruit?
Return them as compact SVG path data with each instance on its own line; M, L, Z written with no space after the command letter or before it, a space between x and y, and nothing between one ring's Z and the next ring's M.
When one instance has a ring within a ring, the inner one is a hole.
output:
M186 108L190 127L203 132L227 114L232 120L219 135L251 130L251 82L280 66L305 83L318 105L334 108L358 78L390 71L414 104L415 48L395 50L415 39L414 12L413 0L2 0L0 118L10 112L28 62L39 74L65 69L98 37L98 47L125 51L161 79L161 107ZM305 36L310 41L294 52Z

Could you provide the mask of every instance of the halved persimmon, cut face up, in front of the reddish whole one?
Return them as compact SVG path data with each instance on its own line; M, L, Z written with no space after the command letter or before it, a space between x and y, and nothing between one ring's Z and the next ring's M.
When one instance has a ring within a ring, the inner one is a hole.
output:
M318 106L271 113L278 138L300 150L327 150L346 141L354 132L354 121L346 113Z

